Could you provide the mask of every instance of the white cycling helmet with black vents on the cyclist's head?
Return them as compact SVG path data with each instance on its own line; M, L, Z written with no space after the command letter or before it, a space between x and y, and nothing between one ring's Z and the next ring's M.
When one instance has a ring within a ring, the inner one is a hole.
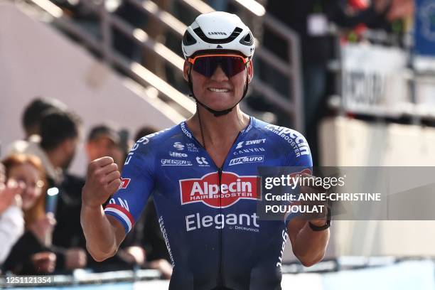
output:
M237 51L252 58L254 36L239 16L215 11L201 14L193 21L184 33L181 48L186 59L210 50Z

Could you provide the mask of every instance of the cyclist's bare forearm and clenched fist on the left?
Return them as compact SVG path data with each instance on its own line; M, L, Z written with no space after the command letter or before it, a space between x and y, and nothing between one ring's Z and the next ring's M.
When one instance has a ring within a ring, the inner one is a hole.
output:
M82 190L80 223L87 250L98 262L114 256L125 237L121 223L104 215L102 208L102 204L120 185L120 173L112 158L102 157L90 163Z

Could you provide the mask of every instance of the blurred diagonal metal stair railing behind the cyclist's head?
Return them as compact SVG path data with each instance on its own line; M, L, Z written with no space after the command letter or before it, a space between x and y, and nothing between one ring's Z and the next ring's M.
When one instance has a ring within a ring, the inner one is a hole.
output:
M178 112L184 117L189 117L190 114L195 112L195 103L186 95L176 90L169 85L166 81L162 80L159 76L151 73L143 65L129 60L112 47L112 31L114 28L120 31L124 36L127 36L131 41L134 41L139 47L153 53L156 58L163 60L165 63L173 68L176 74L183 74L183 58L174 53L171 49L167 48L163 43L155 41L141 28L136 28L127 23L123 18L112 14L104 6L104 0L96 3L95 1L82 0L82 3L87 9L98 16L100 25L101 39L93 36L87 31L84 31L80 25L75 23L69 16L65 16L63 11L49 0L29 0L36 4L40 9L48 12L53 16L53 22L67 33L72 34L80 39L82 43L97 51L102 55L102 59L108 65L114 65L120 68L129 77L139 82L144 86L156 87L159 92L159 97L171 103ZM180 41L183 33L186 30L186 25L179 21L176 17L163 11L151 0L124 0L129 4L139 9L142 13L153 18L154 21L159 21L162 26L168 28ZM200 0L178 0L184 6L188 7L191 11L197 14L207 13L213 9ZM302 103L302 85L301 85L301 69L300 69L300 48L299 38L287 28L283 23L277 21L269 14L265 13L264 7L254 0L247 1L232 0L232 4L243 9L249 17L254 21L262 21L264 26L274 31L276 35L281 37L288 45L288 59L289 61L281 60L276 57L274 53L261 45L257 46L256 57L267 62L276 71L285 75L291 83L291 90L288 96L281 95L276 92L273 87L262 82L258 78L252 81L252 90L258 92L267 101L274 104L281 111L289 116L289 126L294 127L299 131L304 131L303 122L303 103Z

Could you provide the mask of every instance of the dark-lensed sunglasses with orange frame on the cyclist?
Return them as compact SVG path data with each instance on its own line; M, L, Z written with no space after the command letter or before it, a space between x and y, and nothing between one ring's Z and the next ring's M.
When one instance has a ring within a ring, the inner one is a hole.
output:
M216 68L220 66L227 77L237 75L237 73L245 70L249 59L241 55L198 55L195 58L188 58L188 62L192 64L193 70L205 77L211 77L215 73Z

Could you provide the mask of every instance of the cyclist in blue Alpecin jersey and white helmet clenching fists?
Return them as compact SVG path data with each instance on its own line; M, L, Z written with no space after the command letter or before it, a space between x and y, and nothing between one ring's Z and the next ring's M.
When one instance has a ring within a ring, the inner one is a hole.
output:
M326 220L259 219L257 166L310 171L308 144L297 131L240 110L254 38L238 16L198 16L182 49L197 111L139 139L121 179L112 159L90 163L81 217L87 249L97 260L111 257L152 194L173 264L169 289L281 289L287 237L310 266L323 258L329 230Z

